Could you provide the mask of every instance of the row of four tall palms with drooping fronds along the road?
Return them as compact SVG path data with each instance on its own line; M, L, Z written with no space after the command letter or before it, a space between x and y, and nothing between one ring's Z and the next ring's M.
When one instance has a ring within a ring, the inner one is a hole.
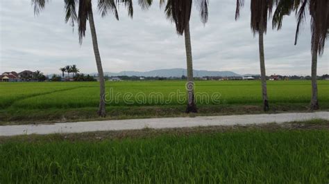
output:
M34 6L35 14L44 9L47 0L31 0ZM112 13L117 20L119 15L117 8L124 6L128 10L128 15L133 17L133 0L97 0L97 9L102 17ZM189 20L192 13L192 4L196 8L201 18L201 22L206 24L208 21L208 0L159 0L160 8L164 9L165 15L169 21L176 25L178 35L184 35L186 64L187 64L187 108L186 113L196 113L197 108L194 102L194 77L193 77L193 59L192 44L189 30ZM139 6L143 10L149 9L153 0L138 0ZM244 0L236 0L235 19L239 18L240 8L244 6ZM82 44L87 28L87 21L90 24L90 33L92 35L92 44L96 60L97 71L100 82L100 102L99 116L106 116L105 101L105 82L103 68L101 64L101 55L96 37L96 28L94 24L94 15L92 10L92 0L65 0L65 22L70 21L72 26L78 25L78 39ZM273 8L276 8L273 11ZM78 11L77 11L78 10ZM259 55L260 55L260 73L262 81L262 99L264 111L269 110L269 99L267 96L267 82L264 57L264 35L267 33L267 21L272 20L272 27L280 30L282 20L285 15L291 15L296 12L296 35L297 44L300 28L305 23L306 12L310 13L310 24L312 30L311 55L312 55L312 98L310 109L319 109L317 99L317 56L322 55L324 45L329 33L329 1L327 0L251 0L251 30L254 35L258 35ZM68 73L69 74L69 73Z

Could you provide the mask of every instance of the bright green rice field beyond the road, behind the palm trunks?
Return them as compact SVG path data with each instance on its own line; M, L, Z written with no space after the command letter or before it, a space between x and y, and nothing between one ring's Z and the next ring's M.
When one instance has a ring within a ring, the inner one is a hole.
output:
M96 118L97 82L2 82L0 91L0 123ZM181 116L185 109L183 81L107 82L106 91L111 94L108 118ZM201 114L262 111L260 81L197 81L195 91ZM329 81L319 81L322 109L329 109L328 92ZM268 93L272 111L301 111L310 102L311 85L310 81L269 81Z

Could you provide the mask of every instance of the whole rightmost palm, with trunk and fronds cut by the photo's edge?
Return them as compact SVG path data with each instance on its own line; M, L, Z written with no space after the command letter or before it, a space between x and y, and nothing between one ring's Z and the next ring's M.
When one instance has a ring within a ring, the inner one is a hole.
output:
M317 56L323 55L326 39L329 34L329 1L328 0L281 0L273 15L273 28L282 28L282 19L291 12L296 12L297 28L295 35L295 45L301 25L305 22L306 12L310 12L311 17L311 53L312 53L312 98L310 108L319 109L318 89L317 89Z

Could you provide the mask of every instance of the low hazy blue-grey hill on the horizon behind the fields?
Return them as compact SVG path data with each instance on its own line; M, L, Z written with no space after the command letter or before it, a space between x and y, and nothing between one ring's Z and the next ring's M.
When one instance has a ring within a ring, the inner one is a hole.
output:
M234 73L232 71L198 71L194 70L194 77L240 77L241 75ZM97 73L92 73L91 75L97 75ZM187 75L187 71L184 68L171 68L171 69L162 69L155 71L121 71L119 73L110 73L105 72L104 75L108 76L144 76L144 77L181 77L182 75Z

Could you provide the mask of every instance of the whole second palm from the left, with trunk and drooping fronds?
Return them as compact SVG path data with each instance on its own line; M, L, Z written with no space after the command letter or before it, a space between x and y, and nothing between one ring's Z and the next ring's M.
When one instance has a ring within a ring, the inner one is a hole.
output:
M147 9L153 3L153 0L139 0L138 3L142 9ZM197 113L194 102L194 77L193 77L193 59L191 35L189 31L189 19L192 11L192 0L160 0L160 6L166 4L165 14L167 19L174 21L178 35L185 37L185 51L187 61L187 108L186 113ZM208 21L208 0L194 0L199 9L201 21L205 24Z

